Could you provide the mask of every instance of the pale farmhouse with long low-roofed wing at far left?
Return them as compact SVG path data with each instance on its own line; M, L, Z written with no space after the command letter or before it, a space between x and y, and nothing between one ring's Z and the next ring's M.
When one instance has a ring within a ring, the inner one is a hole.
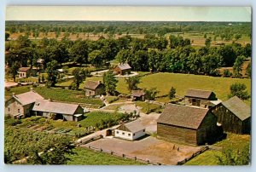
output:
M5 114L13 118L42 116L45 118L79 121L84 109L79 105L45 100L34 90L15 95L5 102Z

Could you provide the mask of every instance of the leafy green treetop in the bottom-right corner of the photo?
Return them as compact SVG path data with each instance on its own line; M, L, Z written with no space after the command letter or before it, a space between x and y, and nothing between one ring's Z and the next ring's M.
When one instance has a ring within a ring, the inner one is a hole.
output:
M239 149L224 147L221 155L216 156L219 165L248 165L250 163L250 143Z

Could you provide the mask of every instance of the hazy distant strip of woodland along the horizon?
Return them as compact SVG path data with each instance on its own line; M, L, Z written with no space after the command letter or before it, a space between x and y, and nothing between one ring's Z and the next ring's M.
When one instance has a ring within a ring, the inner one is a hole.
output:
M66 33L110 33L110 34L147 34L157 33L163 36L173 32L212 32L220 35L228 33L250 34L251 23L233 23L232 26L225 22L172 22L172 21L7 21L6 31L10 33L26 33L37 36L39 32L48 35L55 32L59 35Z

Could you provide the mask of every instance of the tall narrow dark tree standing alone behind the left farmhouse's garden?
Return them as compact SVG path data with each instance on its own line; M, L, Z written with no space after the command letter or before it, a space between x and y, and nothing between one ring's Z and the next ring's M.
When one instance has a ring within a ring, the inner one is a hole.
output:
M58 73L56 72L58 62L56 60L52 60L47 63L46 73L47 77L47 87L55 87L55 83L57 83ZM43 79L42 79L43 80Z

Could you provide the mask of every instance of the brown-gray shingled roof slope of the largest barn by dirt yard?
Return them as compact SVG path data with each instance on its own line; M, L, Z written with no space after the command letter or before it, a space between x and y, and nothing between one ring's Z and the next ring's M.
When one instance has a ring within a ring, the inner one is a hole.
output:
M189 129L198 129L208 111L207 108L169 104L157 122Z

